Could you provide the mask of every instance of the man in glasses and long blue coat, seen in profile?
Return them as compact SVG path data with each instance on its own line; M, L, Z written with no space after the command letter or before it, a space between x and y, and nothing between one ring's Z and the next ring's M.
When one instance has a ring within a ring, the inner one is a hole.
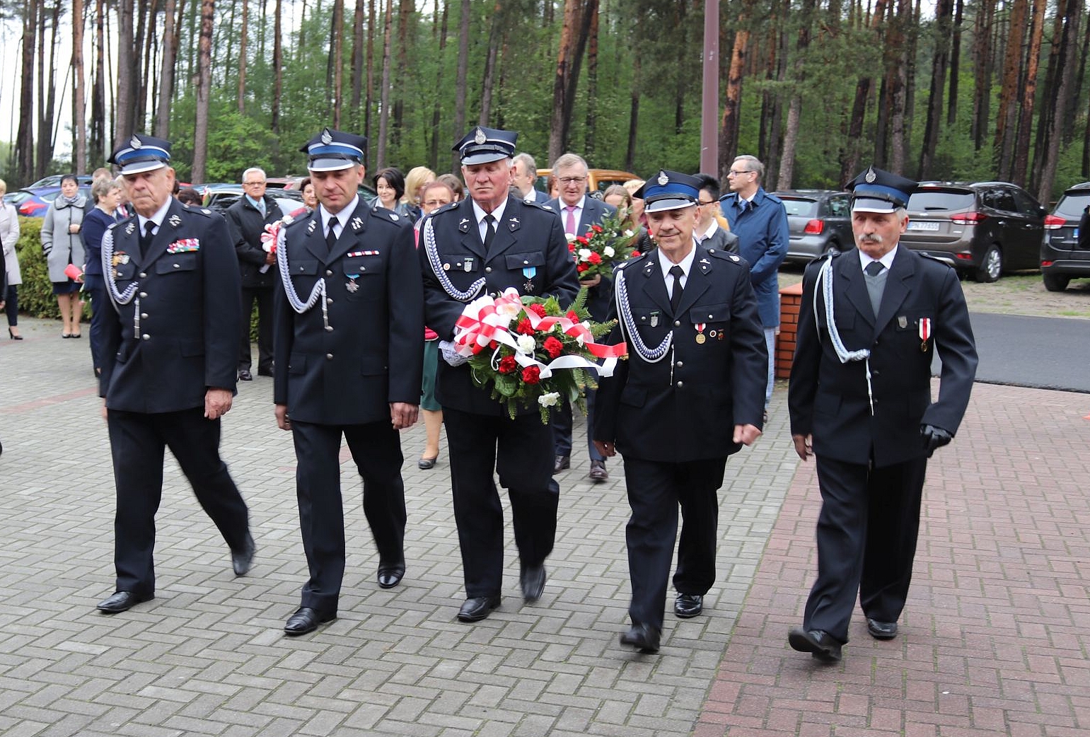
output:
M738 237L738 254L750 265L764 339L768 346L767 411L776 380L776 334L779 333L779 265L790 240L787 209L779 197L761 186L764 165L755 156L735 157L727 172L730 193L719 200L730 232Z

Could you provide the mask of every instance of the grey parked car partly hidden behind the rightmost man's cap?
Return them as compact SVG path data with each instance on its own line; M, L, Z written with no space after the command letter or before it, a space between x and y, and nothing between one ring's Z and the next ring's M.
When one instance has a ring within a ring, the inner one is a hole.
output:
M851 234L851 194L836 190L783 190L790 243L786 261L808 264L828 252L856 243Z

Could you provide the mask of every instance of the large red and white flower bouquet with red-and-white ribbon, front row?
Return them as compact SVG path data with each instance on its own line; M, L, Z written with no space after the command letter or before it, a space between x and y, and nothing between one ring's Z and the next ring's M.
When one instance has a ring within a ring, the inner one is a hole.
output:
M589 368L611 376L626 354L623 342L595 341L613 323L590 322L585 302L586 289L567 312L552 297L519 297L513 288L477 298L456 323L455 348L469 359L473 383L491 389L512 420L520 406L536 403L547 423L549 408L562 398L584 408L581 390L596 387Z

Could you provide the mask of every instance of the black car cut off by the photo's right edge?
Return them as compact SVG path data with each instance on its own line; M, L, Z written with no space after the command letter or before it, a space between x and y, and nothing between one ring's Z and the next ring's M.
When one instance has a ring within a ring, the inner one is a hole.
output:
M1090 278L1090 182L1064 192L1044 218L1041 278L1050 292L1067 289L1071 279Z

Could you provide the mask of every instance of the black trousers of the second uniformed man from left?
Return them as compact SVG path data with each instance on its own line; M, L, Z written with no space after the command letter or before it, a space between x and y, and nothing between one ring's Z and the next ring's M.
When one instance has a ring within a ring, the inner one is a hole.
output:
M405 490L400 437L388 421L324 425L292 420L291 430L299 523L311 571L301 605L337 614L344 578L341 435L363 476L363 512L378 548L379 565L404 565Z

